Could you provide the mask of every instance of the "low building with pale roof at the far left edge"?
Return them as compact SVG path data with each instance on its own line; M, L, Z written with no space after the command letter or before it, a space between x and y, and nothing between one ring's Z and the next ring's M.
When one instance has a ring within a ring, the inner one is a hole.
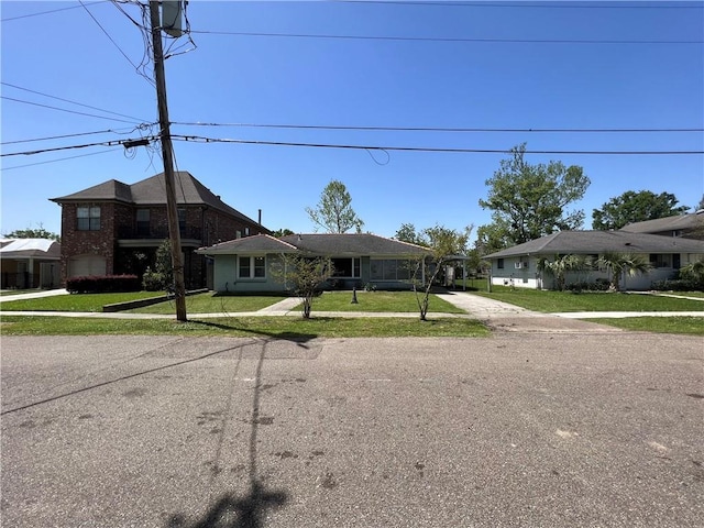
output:
M0 242L2 289L58 288L61 244L50 239L2 239Z

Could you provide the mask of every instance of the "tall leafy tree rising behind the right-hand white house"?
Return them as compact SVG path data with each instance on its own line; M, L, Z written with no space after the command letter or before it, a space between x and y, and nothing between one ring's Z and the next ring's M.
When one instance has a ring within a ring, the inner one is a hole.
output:
M494 222L505 226L512 244L539 239L560 230L579 229L584 211L565 211L590 185L582 167L562 162L530 165L526 144L512 148L512 157L486 180L487 198L480 206L492 210Z

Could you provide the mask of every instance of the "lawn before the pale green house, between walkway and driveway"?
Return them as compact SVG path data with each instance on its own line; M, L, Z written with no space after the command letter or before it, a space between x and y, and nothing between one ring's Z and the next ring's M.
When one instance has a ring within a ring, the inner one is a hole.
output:
M418 309L416 294L413 292L358 292L358 304L352 304L352 292L326 292L312 301L316 311L388 311L415 312ZM430 295L428 314L464 314L464 310Z

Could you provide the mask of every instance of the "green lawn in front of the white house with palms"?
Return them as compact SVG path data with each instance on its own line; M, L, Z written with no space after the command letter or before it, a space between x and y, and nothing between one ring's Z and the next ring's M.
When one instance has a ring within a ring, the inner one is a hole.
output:
M492 286L492 293L473 292L529 310L561 311L704 311L704 301L646 294L547 292Z

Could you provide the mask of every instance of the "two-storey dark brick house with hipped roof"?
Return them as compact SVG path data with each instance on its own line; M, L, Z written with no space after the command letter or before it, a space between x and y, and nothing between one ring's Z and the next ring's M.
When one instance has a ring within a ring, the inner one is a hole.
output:
M186 287L208 283L206 258L194 250L221 240L268 233L224 204L188 172L175 174ZM154 266L168 239L164 174L136 184L116 179L52 198L62 206L62 278L136 274Z

